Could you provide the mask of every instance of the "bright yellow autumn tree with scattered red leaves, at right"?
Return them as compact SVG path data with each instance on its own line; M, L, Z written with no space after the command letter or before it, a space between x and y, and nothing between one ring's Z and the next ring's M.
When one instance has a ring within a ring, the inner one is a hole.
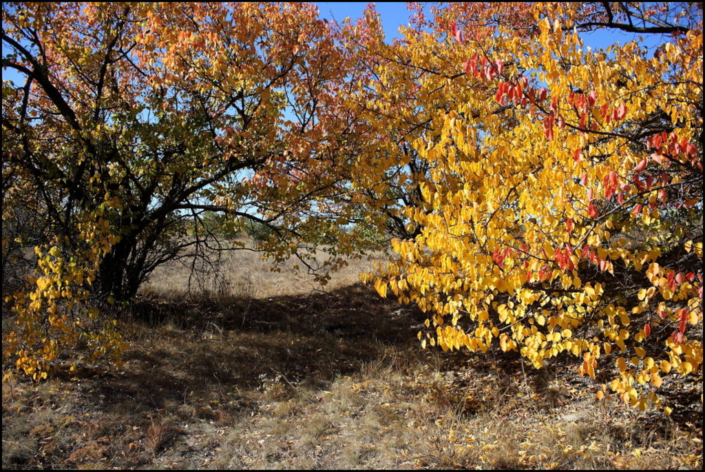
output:
M348 30L370 64L348 104L388 138L357 185L387 192L405 147L427 169L376 288L429 313L423 346L569 356L611 375L599 397L660 406L664 377L702 373L701 4L431 13L391 46L372 11Z

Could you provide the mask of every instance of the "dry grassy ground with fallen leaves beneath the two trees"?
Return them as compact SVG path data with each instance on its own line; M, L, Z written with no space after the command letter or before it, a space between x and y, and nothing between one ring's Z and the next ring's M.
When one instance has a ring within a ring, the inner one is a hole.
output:
M218 296L156 274L122 370L4 382L3 467L701 468L701 383L638 413L565 364L420 350L423 315L353 284L365 262L324 293L236 254Z

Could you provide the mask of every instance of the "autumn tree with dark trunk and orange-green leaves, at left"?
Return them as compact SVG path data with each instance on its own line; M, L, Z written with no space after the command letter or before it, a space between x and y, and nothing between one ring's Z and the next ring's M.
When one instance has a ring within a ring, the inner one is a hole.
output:
M357 250L335 237L355 121L314 6L3 4L2 42L19 77L3 82L3 265L36 254L3 346L25 373L76 343L117 358L89 299L128 301L164 262L224 248L214 215L266 227L260 250L310 270L317 242L324 270Z

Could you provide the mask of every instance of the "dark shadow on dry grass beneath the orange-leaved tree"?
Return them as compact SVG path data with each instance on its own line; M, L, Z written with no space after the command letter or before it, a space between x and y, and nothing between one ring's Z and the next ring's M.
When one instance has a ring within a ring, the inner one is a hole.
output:
M183 406L213 420L256 409L255 393L267 389L286 398L298 387L325 388L390 347L417 351L412 327L424 318L361 284L267 299L142 298L123 315L131 346L123 370L72 377L91 377L86 401L106 413L147 416Z

